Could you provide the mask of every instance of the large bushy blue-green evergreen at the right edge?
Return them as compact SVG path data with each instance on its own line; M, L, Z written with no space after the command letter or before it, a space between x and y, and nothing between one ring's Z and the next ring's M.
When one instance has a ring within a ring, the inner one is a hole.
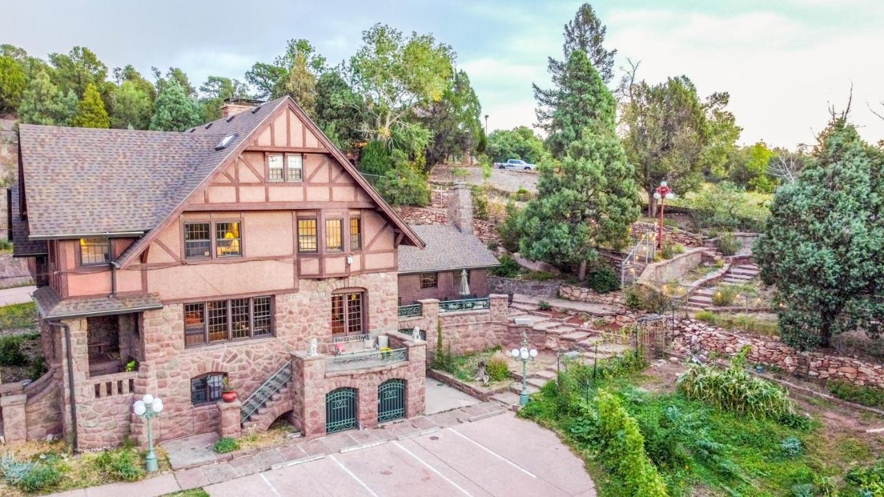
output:
M777 190L753 248L761 278L775 285L783 341L828 347L838 333L884 323L884 152L846 116L821 135L794 183Z

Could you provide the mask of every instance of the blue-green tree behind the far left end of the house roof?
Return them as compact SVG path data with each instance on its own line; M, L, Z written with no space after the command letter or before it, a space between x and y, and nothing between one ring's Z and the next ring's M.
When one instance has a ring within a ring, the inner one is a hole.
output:
M63 94L45 71L36 73L21 95L19 121L27 124L66 126L77 107L73 90Z

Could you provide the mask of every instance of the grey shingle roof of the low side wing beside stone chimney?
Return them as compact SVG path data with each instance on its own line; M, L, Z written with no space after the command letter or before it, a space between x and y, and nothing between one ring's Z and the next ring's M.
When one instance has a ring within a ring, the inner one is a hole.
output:
M492 251L469 233L461 233L453 226L411 226L426 243L421 250L400 246L399 272L436 272L474 269L500 265Z

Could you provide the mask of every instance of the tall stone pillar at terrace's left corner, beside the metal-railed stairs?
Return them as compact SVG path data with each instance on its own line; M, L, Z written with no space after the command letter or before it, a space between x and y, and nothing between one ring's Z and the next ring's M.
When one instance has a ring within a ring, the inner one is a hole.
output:
M294 394L300 409L301 434L305 439L325 435L325 356L293 354Z

